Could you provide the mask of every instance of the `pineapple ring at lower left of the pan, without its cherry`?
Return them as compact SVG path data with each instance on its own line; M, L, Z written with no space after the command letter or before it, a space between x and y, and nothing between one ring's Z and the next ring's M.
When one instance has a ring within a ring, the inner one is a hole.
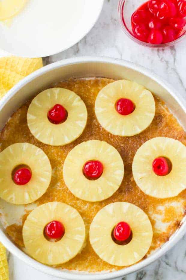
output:
M44 237L44 228L52 220L64 225L61 240L50 242ZM26 253L41 263L66 263L82 250L85 241L85 224L79 212L61 202L49 202L35 208L27 217L22 229Z

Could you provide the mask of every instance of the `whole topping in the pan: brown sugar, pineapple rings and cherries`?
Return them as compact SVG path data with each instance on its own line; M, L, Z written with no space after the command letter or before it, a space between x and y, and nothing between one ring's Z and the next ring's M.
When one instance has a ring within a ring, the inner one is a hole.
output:
M71 79L22 105L0 134L6 233L41 263L86 272L143 260L186 210L186 134L133 81Z

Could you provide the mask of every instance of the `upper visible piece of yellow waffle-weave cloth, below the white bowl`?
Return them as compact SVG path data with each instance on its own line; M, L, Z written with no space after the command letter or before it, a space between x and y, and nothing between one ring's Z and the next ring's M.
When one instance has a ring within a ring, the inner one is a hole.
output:
M42 58L0 58L0 98L17 82L41 67Z

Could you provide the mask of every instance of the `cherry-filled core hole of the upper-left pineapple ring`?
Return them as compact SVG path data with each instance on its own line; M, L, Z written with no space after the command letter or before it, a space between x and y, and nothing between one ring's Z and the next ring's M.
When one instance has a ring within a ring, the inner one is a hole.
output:
M61 108L56 108L56 107L60 107ZM50 117L49 116L49 113L53 110L53 114L54 116L53 117ZM60 112L60 110L62 110L62 112ZM52 108L50 108L48 110L48 113L47 113L47 118L49 120L50 123L53 123L53 124L61 124L61 123L64 123L66 120L67 120L67 117L68 117L68 112L67 110L64 108L63 105L61 104L55 104Z

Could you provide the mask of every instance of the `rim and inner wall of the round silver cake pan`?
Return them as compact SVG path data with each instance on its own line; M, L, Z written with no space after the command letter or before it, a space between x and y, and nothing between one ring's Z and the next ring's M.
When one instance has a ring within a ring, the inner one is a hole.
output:
M129 79L139 82L157 96L161 97L174 116L178 118L182 126L186 128L186 102L160 77L128 61L114 58L82 57L70 58L45 66L14 86L0 101L0 129L4 127L11 114L36 92L49 86L52 82L80 77L108 77L113 79ZM10 241L8 236L5 235L2 226L0 229L0 241L20 260L47 274L69 280L104 280L122 277L149 265L172 248L182 238L185 232L186 221L183 219L182 226L171 236L170 240L145 260L119 271L96 274L59 270L37 262Z

